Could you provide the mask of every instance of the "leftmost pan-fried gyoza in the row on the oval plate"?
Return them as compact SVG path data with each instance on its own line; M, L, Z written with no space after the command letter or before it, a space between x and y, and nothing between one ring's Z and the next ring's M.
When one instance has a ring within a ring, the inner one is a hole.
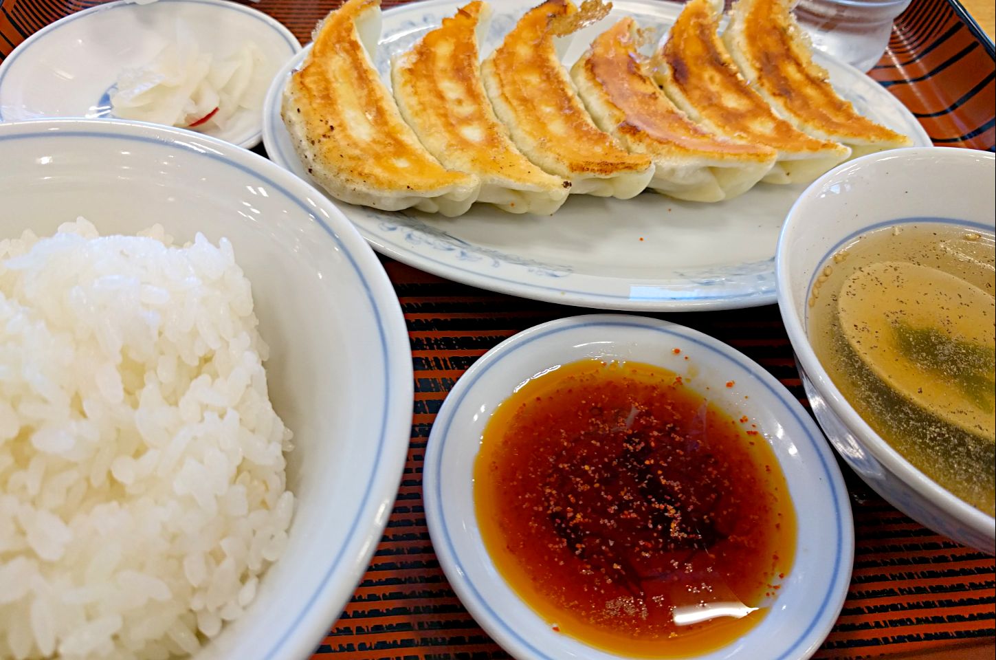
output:
M350 0L316 28L284 92L284 122L309 173L334 197L462 213L476 198L476 177L447 170L425 150L370 61L361 31L379 30L379 5Z

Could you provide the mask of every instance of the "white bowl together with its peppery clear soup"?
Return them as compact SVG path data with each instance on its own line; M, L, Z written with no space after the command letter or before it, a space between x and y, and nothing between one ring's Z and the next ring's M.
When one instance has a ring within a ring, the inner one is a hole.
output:
M994 189L985 151L871 154L814 182L775 258L817 420L871 488L994 551Z

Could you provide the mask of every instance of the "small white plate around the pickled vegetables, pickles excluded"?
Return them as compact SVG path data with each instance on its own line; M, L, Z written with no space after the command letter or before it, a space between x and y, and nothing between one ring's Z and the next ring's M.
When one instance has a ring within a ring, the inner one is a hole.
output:
M226 0L112 2L86 9L39 30L0 65L0 121L39 117L110 116L108 95L123 69L147 64L175 40L176 21L193 32L204 52L225 56L253 41L263 54L254 73L262 108L267 81L301 50L275 19ZM237 110L224 130L204 134L252 148L261 137L259 110Z

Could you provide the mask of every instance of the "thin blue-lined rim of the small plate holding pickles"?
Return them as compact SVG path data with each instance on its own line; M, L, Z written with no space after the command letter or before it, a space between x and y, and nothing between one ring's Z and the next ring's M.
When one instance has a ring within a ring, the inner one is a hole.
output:
M292 56L301 51L301 43L297 40L297 37L295 37L294 34L287 29L286 26L284 26L282 23L277 21L275 18L269 16L268 14L264 14L263 12L257 9L253 9L252 7L246 7L245 5L241 5L236 2L230 2L228 0L155 0L156 5L179 4L179 3L209 5L221 12L234 12L237 14L241 14L243 16L250 17L260 22L261 24L267 26L274 33L280 35L284 43L286 43L287 47L290 49L290 53ZM65 16L64 18L61 18L58 21L51 23L42 28L41 30L39 30L38 32L34 33L33 35L25 39L23 42L21 42L17 46L17 48L15 48L3 62L0 62L0 99L2 99L4 81L6 80L7 75L17 66L18 60L20 60L20 58L26 52L28 52L33 46L39 44L42 41L46 41L48 37L51 36L53 33L56 33L62 28L65 28L67 25L76 23L81 19L91 18L95 14L105 15L109 12L114 12L120 9L135 11L136 9L140 9L140 7L141 5L136 4L133 0L116 0L115 2L109 2L107 4L97 5L95 7L90 7L89 9L84 9L82 11L78 11L68 16ZM106 91L104 93L104 97L108 96L109 91ZM16 120L25 120L27 118L32 118L32 117L15 117L13 119L5 119L3 114L3 105L0 104L0 121L5 121L5 120L16 121ZM51 117L51 118L59 118L59 117ZM70 118L70 117L62 117L62 118ZM80 118L84 117L81 115ZM240 140L237 145L246 148L251 148L256 144L259 144L260 140L262 139L262 136L263 136L263 130L262 127L260 127L260 129L256 130L252 135L246 137L245 139Z

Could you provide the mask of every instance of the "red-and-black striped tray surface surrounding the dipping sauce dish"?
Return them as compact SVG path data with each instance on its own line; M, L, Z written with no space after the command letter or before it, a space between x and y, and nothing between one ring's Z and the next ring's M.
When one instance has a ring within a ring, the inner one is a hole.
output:
M518 331L596 311L492 294L389 260L384 266L407 322L415 370L408 462L371 570L315 657L508 658L460 605L432 551L419 477L425 442L446 392L477 357ZM777 308L652 316L736 347L808 408ZM854 576L841 617L816 657L857 659L931 650L944 652L938 657L991 657L996 635L993 558L917 525L843 464L842 469L855 515ZM986 641L988 648L980 646ZM951 655L958 651L967 655Z

